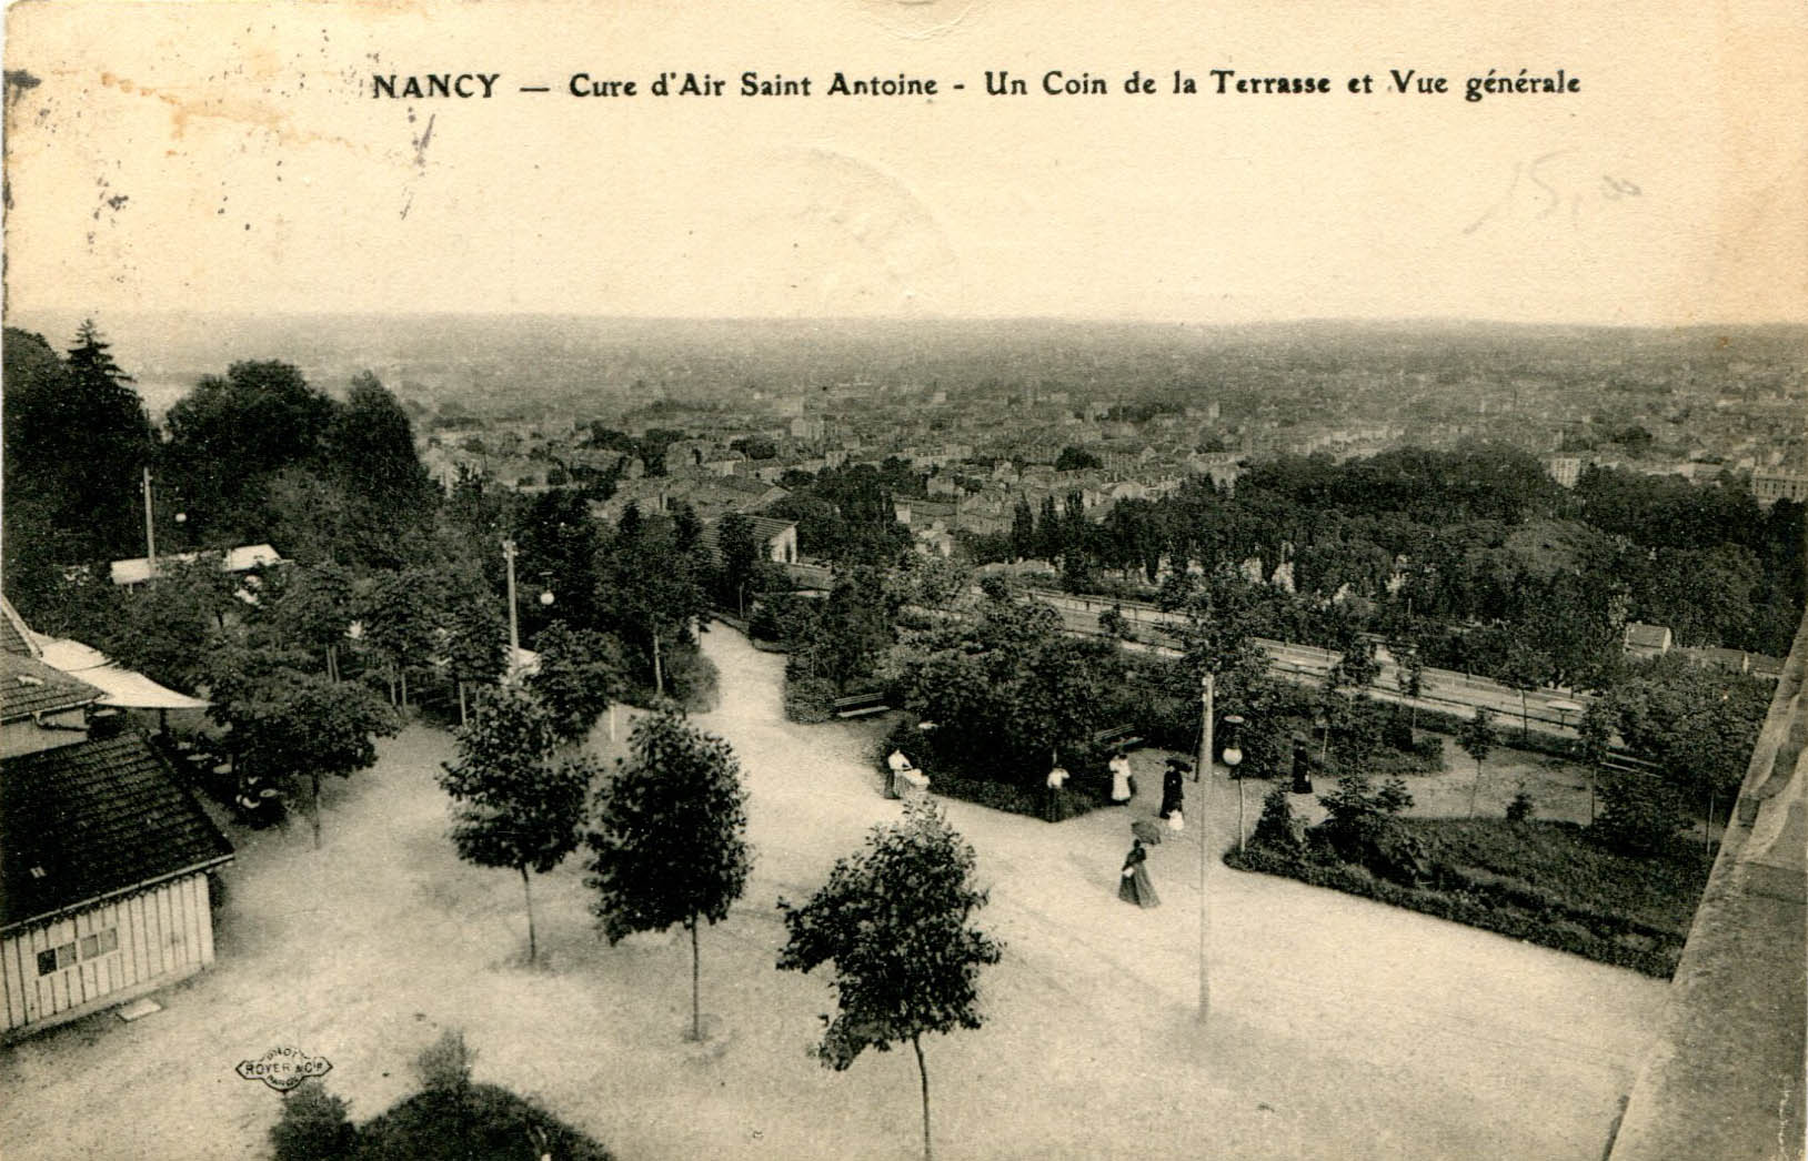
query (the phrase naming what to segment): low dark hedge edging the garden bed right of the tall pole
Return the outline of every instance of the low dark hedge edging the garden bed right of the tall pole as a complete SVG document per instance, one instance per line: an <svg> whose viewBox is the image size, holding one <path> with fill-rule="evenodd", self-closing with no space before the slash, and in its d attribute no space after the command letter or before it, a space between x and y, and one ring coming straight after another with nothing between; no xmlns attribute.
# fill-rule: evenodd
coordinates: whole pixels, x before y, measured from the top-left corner
<svg viewBox="0 0 1808 1161"><path fill-rule="evenodd" d="M1224 856L1224 863L1235 867L1237 870L1257 870L1262 874L1298 879L1300 883L1309 883L1311 887L1329 887L1331 890L1342 890L1345 894L1361 896L1390 906L1401 906L1425 915L1436 915L1437 919L1448 919L1452 923L1481 928L1484 932L1495 932L1499 935L1522 939L1526 943L1555 948L1558 952L1569 952L1571 955L1582 955L1584 959L1593 959L1595 962L1611 964L1615 968L1631 968L1633 971L1642 971L1656 979L1671 979L1671 975L1676 973L1678 959L1681 959L1681 943L1676 941L1674 933L1654 933L1656 937L1671 941L1665 946L1627 946L1616 937L1600 935L1589 930L1573 917L1564 917L1564 912L1569 912L1569 908L1555 914L1528 914L1524 910L1513 910L1511 906L1492 905L1481 892L1399 887L1396 883L1376 879L1365 868L1351 863L1314 863L1262 847L1248 847L1242 852L1233 849ZM1504 901L1506 896L1497 894L1495 897ZM1643 937L1653 937L1653 930L1643 924L1629 924L1624 919L1613 919L1613 923L1622 928L1634 928Z"/></svg>

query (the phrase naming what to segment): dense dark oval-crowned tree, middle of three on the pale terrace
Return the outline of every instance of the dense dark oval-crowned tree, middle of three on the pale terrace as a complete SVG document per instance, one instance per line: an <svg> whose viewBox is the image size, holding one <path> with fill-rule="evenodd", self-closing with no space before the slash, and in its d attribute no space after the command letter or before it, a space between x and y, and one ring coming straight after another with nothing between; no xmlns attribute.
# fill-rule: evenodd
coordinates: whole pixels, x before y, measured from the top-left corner
<svg viewBox="0 0 1808 1161"><path fill-rule="evenodd" d="M635 722L627 746L588 840L591 912L611 944L674 923L691 932L691 1038L702 1040L698 921L727 919L752 870L741 764L671 710Z"/></svg>

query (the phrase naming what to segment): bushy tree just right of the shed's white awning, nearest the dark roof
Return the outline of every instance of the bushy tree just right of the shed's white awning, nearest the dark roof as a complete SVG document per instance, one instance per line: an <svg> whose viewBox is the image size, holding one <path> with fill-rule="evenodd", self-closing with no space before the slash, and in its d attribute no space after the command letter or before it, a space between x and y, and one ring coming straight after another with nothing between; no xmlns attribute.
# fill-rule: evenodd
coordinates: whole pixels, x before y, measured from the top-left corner
<svg viewBox="0 0 1808 1161"><path fill-rule="evenodd" d="M257 650L215 639L208 650L208 715L231 728L242 773L271 782L307 775L315 847L320 847L320 775L349 778L376 762L376 738L396 715L358 684L302 668L306 654Z"/></svg>

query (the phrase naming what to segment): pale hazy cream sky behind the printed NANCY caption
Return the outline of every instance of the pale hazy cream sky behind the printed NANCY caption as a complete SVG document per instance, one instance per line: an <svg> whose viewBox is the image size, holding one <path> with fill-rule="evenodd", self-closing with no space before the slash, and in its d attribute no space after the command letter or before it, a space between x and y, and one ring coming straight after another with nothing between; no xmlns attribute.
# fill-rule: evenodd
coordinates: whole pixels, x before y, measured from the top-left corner
<svg viewBox="0 0 1808 1161"><path fill-rule="evenodd" d="M7 305L1808 318L1797 0L694 7L16 5ZM1387 92L1490 67L1582 88ZM1043 96L1052 69L1110 92ZM1332 92L1219 96L1211 69ZM729 96L653 98L662 70ZM734 96L743 70L814 96ZM835 70L940 92L830 98ZM495 96L372 98L428 72Z"/></svg>

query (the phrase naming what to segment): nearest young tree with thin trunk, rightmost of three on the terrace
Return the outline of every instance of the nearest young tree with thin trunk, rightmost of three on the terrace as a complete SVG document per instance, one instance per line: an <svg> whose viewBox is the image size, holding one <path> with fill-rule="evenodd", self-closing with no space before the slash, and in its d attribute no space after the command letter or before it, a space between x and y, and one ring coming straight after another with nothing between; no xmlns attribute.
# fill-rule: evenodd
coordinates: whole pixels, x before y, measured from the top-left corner
<svg viewBox="0 0 1808 1161"><path fill-rule="evenodd" d="M837 1073L868 1047L908 1040L922 1082L922 1156L929 1138L929 1071L924 1033L980 1027L980 968L1002 948L967 926L985 905L973 887L973 847L929 802L909 802L904 822L873 827L866 849L837 859L808 903L779 899L790 941L779 968L810 971L833 962L837 1015L823 1017L817 1058Z"/></svg>

